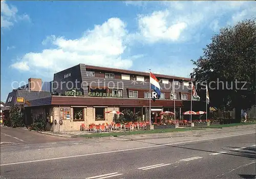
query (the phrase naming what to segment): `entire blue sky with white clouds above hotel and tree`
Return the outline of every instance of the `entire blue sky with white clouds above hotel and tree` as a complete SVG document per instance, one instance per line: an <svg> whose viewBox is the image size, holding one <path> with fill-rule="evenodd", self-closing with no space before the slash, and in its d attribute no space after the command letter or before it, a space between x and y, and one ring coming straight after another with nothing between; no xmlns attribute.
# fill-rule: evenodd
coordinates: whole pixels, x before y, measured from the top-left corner
<svg viewBox="0 0 256 179"><path fill-rule="evenodd" d="M254 5L1 1L1 101L30 77L51 81L78 63L188 77L211 36L252 17Z"/></svg>

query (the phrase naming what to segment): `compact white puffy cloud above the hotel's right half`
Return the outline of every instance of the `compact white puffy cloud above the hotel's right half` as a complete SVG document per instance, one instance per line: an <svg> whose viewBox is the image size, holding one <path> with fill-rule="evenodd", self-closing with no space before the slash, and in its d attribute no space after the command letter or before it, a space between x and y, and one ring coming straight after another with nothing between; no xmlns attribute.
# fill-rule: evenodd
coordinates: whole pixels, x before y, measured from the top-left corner
<svg viewBox="0 0 256 179"><path fill-rule="evenodd" d="M140 34L148 42L160 40L176 41L180 38L181 32L187 27L184 21L169 23L169 11L155 11L150 15L139 16Z"/></svg>

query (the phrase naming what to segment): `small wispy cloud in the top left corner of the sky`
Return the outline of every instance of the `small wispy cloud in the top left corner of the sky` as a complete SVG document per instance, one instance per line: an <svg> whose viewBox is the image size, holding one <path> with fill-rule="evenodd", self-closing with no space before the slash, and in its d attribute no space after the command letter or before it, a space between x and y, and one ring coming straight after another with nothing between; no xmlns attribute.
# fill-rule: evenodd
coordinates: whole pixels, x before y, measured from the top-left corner
<svg viewBox="0 0 256 179"><path fill-rule="evenodd" d="M9 6L6 1L1 1L1 28L10 28L17 20L30 21L28 14L19 15L17 13L18 9L15 6Z"/></svg>

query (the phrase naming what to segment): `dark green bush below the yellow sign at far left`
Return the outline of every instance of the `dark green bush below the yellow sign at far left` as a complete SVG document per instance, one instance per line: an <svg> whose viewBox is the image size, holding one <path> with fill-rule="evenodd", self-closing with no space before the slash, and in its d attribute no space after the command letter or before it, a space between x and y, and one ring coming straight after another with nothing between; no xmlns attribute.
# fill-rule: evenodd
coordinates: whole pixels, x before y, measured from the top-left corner
<svg viewBox="0 0 256 179"><path fill-rule="evenodd" d="M9 121L8 121L9 120ZM23 127L23 114L17 105L12 105L9 111L9 119L5 125L9 125L11 127Z"/></svg>

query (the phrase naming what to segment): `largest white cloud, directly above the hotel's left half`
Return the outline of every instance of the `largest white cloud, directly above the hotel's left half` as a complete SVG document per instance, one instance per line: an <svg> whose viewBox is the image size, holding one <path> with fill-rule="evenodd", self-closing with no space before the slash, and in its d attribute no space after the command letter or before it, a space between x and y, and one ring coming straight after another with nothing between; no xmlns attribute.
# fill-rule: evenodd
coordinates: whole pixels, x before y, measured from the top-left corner
<svg viewBox="0 0 256 179"><path fill-rule="evenodd" d="M125 27L125 23L119 18L110 18L93 30L87 30L78 39L48 36L42 43L51 43L55 48L45 49L40 53L27 53L21 62L12 64L12 68L24 71L36 69L44 72L42 75L52 75L53 72L79 63L129 69L133 61L121 57L126 49ZM26 68L20 67L25 64Z"/></svg>

